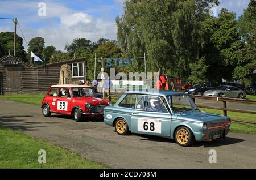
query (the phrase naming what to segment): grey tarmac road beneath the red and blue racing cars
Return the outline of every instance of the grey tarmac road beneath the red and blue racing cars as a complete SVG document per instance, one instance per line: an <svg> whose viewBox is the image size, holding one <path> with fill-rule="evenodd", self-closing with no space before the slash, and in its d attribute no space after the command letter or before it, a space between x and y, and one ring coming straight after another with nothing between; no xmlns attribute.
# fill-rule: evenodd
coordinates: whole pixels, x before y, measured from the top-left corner
<svg viewBox="0 0 256 180"><path fill-rule="evenodd" d="M112 168L256 168L255 135L229 133L226 139L180 147L174 140L155 136L119 136L100 119L75 122L55 114L47 118L41 110L36 105L0 100L0 125ZM210 149L217 152L216 164L208 161Z"/></svg>

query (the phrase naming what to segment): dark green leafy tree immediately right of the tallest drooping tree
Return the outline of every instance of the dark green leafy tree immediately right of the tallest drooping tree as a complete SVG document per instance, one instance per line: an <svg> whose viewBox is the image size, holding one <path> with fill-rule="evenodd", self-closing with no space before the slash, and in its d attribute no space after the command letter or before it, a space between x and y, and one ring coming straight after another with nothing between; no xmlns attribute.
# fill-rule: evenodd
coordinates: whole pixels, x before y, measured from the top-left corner
<svg viewBox="0 0 256 180"><path fill-rule="evenodd" d="M203 53L209 65L207 79L221 82L232 80L232 72L240 61L243 43L238 35L236 14L222 9L218 18L208 17L202 22L207 31Z"/></svg>

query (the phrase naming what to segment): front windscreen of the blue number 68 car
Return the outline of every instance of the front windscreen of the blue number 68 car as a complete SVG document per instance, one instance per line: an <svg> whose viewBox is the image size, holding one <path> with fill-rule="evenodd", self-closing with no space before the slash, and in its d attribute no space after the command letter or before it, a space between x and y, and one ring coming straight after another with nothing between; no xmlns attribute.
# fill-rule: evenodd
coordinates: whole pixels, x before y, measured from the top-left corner
<svg viewBox="0 0 256 180"><path fill-rule="evenodd" d="M167 101L175 113L198 109L195 102L187 95L167 96Z"/></svg>

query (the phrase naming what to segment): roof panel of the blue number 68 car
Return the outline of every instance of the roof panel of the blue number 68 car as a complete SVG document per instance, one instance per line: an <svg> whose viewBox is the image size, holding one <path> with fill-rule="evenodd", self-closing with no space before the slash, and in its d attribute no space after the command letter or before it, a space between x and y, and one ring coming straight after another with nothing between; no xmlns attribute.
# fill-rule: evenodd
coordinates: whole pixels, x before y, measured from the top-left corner
<svg viewBox="0 0 256 180"><path fill-rule="evenodd" d="M126 94L146 94L146 95L156 95L156 96L171 96L171 95L187 95L187 93L177 92L177 91L164 91L156 89L147 89L142 91L126 91Z"/></svg>

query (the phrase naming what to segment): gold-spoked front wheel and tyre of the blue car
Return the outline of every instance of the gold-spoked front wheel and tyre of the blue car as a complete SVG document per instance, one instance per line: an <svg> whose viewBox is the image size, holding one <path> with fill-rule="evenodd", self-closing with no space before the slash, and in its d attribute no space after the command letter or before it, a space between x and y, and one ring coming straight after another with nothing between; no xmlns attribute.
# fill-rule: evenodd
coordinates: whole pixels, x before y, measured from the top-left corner
<svg viewBox="0 0 256 180"><path fill-rule="evenodd" d="M175 141L180 146L188 147L195 143L195 136L188 127L181 126L175 131Z"/></svg>

